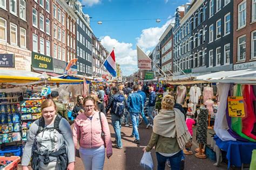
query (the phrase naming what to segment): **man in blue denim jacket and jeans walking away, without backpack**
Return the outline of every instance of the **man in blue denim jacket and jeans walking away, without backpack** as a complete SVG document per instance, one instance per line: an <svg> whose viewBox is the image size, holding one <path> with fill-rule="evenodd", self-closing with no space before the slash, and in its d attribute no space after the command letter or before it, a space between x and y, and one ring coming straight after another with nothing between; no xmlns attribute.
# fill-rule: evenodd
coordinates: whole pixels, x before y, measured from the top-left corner
<svg viewBox="0 0 256 170"><path fill-rule="evenodd" d="M143 112L144 101L142 95L138 93L138 86L133 86L133 93L128 96L128 111L132 121L132 136L135 136L134 143L139 143L138 120L139 114Z"/></svg>

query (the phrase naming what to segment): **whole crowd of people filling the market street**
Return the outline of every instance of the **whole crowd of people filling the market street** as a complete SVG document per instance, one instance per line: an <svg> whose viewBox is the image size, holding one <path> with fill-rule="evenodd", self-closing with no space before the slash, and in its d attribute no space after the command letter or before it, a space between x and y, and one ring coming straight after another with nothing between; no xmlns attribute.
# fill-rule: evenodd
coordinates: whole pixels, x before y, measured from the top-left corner
<svg viewBox="0 0 256 170"><path fill-rule="evenodd" d="M165 169L166 164L172 169L184 169L183 149L190 152L187 144L192 138L190 125L193 122L190 120L190 125L186 125L186 113L174 102L172 93L165 94L161 110L155 116L157 95L149 84L99 86L85 98L77 96L77 104L72 110L75 121L72 122L65 105L58 102L58 96L57 91L52 91L51 99L42 104L42 117L29 129L22 157L24 170L28 169L30 160L32 169L74 169L76 150L85 169L103 169L105 156L109 159L112 155L107 115L111 115L115 133L114 147L123 148L122 124L130 126L130 122L133 142L139 144L138 127L144 121L147 129L152 127L152 135L143 151L156 148L158 169ZM73 124L72 130L70 124Z"/></svg>

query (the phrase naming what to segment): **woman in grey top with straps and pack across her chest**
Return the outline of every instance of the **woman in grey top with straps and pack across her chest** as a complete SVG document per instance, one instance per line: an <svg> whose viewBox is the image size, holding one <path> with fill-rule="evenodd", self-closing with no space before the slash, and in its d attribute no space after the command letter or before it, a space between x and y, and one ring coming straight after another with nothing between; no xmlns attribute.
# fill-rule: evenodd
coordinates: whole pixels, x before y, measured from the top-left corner
<svg viewBox="0 0 256 170"><path fill-rule="evenodd" d="M41 105L42 117L32 123L22 155L22 169L73 170L75 147L69 122L56 112L53 100Z"/></svg>

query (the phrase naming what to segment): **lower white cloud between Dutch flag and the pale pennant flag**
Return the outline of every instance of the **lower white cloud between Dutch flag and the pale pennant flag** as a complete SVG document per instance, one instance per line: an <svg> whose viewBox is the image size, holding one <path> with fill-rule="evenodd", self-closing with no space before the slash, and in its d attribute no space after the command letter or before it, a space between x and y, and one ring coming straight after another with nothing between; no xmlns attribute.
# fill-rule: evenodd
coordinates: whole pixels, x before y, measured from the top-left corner
<svg viewBox="0 0 256 170"><path fill-rule="evenodd" d="M116 61L121 65L123 75L130 75L137 68L137 50L132 49L131 43L119 42L109 36L100 38L102 45L111 52L114 47Z"/></svg>

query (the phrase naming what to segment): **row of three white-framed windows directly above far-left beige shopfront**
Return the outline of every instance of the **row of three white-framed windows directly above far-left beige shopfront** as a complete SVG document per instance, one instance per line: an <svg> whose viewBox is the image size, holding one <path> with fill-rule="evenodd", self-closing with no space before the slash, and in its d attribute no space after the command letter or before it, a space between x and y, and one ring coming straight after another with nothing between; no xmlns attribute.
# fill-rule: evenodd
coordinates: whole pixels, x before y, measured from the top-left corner
<svg viewBox="0 0 256 170"><path fill-rule="evenodd" d="M26 30L19 27L20 47L26 48ZM0 40L7 42L7 21L0 18ZM10 44L18 45L18 26L10 23Z"/></svg>

